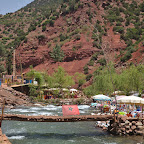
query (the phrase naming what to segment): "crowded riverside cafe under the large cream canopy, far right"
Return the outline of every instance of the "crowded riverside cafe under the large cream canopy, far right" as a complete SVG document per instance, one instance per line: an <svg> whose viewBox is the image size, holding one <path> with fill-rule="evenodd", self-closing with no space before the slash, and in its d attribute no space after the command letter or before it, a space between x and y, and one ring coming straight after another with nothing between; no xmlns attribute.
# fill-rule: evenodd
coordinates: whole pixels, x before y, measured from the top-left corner
<svg viewBox="0 0 144 144"><path fill-rule="evenodd" d="M143 117L144 116L144 99L137 96L121 96L117 98L119 105L119 114L127 115L128 117Z"/></svg>

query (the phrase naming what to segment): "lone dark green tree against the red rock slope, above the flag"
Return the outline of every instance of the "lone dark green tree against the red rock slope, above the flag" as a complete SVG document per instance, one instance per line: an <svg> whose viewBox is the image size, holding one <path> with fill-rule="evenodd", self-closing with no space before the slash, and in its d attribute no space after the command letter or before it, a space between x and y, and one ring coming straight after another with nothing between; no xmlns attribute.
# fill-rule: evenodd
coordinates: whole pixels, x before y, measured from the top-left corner
<svg viewBox="0 0 144 144"><path fill-rule="evenodd" d="M63 50L61 50L61 47L59 45L56 45L53 48L53 51L50 53L50 56L55 62L62 62L64 59L64 52Z"/></svg>

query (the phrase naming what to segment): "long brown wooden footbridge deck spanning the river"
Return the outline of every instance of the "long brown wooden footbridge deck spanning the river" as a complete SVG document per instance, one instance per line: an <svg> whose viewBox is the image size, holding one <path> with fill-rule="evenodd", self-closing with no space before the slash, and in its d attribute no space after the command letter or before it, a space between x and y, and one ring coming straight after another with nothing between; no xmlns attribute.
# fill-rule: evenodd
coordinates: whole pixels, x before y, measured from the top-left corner
<svg viewBox="0 0 144 144"><path fill-rule="evenodd" d="M76 116L26 116L5 114L3 120L30 122L79 122L79 121L107 121L113 115L76 115Z"/></svg>

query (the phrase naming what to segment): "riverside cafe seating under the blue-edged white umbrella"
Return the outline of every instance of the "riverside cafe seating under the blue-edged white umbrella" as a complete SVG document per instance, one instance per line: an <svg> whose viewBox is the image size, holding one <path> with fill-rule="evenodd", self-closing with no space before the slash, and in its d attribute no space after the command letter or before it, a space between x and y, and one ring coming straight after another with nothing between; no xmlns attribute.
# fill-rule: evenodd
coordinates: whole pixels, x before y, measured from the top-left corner
<svg viewBox="0 0 144 144"><path fill-rule="evenodd" d="M111 98L103 95L103 94L99 94L99 95L95 95L92 97L93 98L93 103L91 103L91 107L95 107L97 110L100 110L102 113L103 112L110 112L110 104L111 104Z"/></svg>

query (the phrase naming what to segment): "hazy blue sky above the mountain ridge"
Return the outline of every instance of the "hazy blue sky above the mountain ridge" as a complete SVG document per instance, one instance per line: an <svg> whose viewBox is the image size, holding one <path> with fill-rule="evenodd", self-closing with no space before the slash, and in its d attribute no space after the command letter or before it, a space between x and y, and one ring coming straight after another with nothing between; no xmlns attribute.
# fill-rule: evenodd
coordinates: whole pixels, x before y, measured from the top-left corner
<svg viewBox="0 0 144 144"><path fill-rule="evenodd" d="M0 14L15 12L34 0L0 0Z"/></svg>

